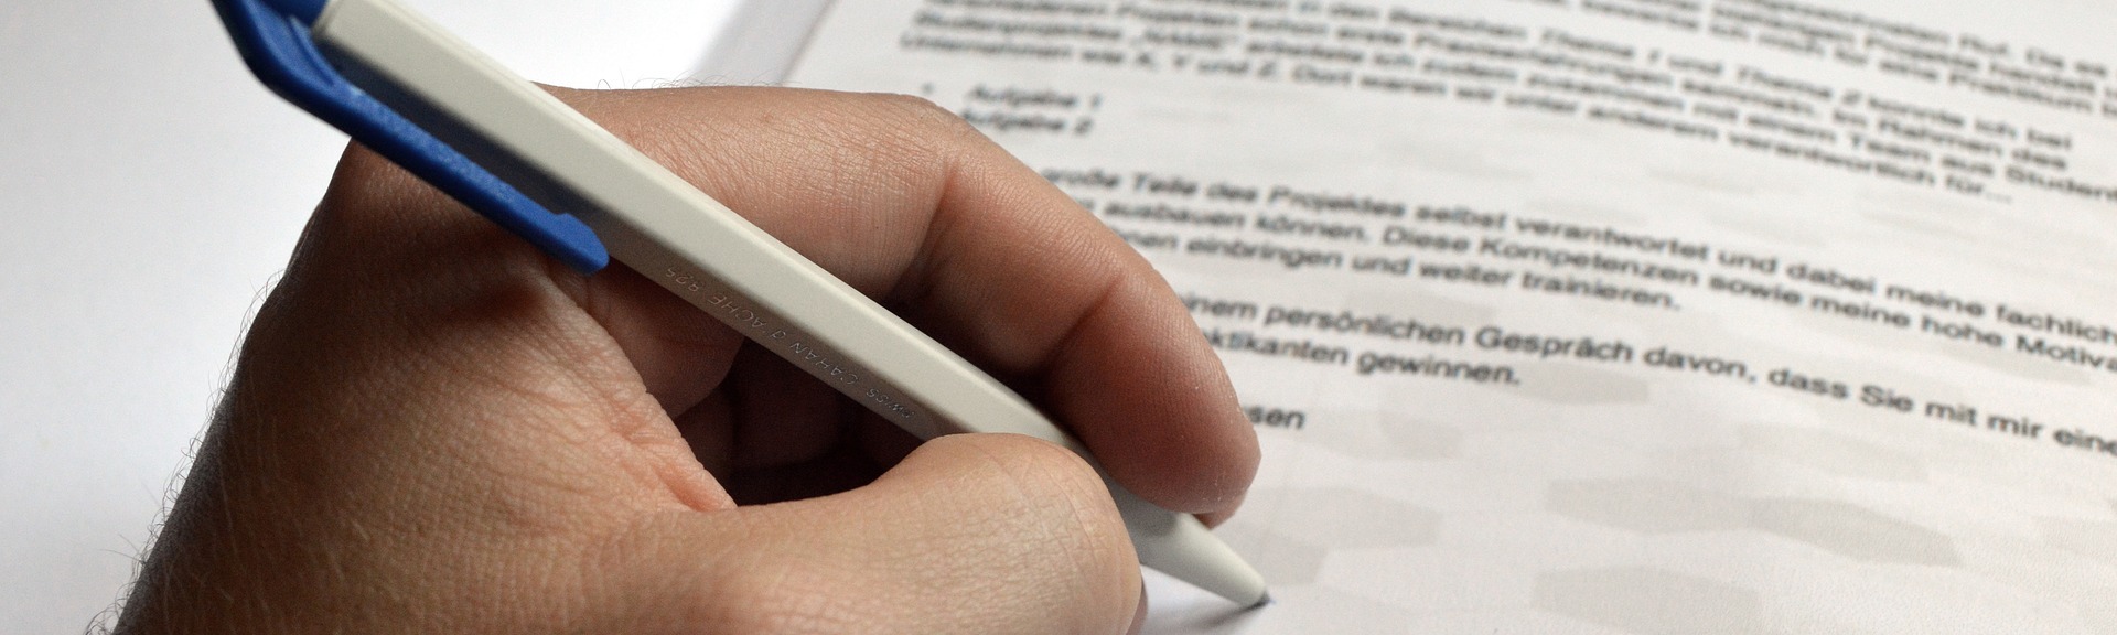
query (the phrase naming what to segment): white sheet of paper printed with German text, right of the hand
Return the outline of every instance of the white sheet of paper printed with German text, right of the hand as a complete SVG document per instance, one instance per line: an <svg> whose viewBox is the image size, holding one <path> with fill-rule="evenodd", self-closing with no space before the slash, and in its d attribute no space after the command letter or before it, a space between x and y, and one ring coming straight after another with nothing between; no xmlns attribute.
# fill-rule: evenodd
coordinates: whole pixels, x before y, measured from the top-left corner
<svg viewBox="0 0 2117 635"><path fill-rule="evenodd" d="M1147 254L1277 605L1160 633L2117 633L2117 55L2083 2L860 0Z"/></svg>

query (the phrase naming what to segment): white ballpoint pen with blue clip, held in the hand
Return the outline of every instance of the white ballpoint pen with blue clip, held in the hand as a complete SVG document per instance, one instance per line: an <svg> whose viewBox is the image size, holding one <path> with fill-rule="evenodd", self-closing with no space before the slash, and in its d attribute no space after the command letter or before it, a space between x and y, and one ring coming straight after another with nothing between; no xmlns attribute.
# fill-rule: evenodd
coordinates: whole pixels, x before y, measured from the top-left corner
<svg viewBox="0 0 2117 635"><path fill-rule="evenodd" d="M1103 472L1139 561L1241 605L1264 578L1035 406L557 97L394 0L214 0L252 72L553 258L618 258L919 438L1035 436ZM563 212L563 214L555 214Z"/></svg>

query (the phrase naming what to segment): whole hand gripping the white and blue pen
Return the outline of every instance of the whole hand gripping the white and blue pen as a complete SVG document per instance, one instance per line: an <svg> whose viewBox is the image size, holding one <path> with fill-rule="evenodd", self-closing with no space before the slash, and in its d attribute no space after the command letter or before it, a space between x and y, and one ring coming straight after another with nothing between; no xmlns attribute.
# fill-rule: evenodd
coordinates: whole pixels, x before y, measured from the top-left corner
<svg viewBox="0 0 2117 635"><path fill-rule="evenodd" d="M957 116L561 97L1023 389L1139 495L1207 521L1241 502L1255 436L1183 305ZM351 148L119 631L1124 633L1141 612L1075 455L917 444L639 273L572 273Z"/></svg>

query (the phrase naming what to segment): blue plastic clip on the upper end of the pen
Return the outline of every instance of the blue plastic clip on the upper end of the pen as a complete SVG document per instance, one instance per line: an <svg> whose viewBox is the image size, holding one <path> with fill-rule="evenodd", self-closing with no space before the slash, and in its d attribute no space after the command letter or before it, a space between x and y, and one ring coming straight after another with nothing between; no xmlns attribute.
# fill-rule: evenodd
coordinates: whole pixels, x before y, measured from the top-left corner
<svg viewBox="0 0 2117 635"><path fill-rule="evenodd" d="M580 218L553 214L339 74L309 38L324 0L214 0L250 72L279 97L354 135L491 222L580 273L610 265L610 252Z"/></svg>

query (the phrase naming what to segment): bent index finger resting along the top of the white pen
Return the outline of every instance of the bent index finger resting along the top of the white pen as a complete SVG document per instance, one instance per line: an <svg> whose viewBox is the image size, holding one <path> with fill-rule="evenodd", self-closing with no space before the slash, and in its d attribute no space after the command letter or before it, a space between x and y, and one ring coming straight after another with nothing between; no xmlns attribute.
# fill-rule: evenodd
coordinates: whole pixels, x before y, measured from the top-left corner
<svg viewBox="0 0 2117 635"><path fill-rule="evenodd" d="M567 97L957 353L1027 387L1141 497L1183 512L1241 502L1257 464L1255 434L1166 282L961 119L912 97L785 89Z"/></svg>

